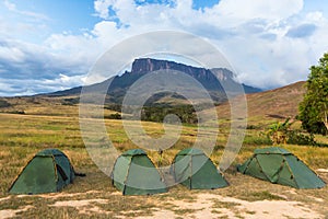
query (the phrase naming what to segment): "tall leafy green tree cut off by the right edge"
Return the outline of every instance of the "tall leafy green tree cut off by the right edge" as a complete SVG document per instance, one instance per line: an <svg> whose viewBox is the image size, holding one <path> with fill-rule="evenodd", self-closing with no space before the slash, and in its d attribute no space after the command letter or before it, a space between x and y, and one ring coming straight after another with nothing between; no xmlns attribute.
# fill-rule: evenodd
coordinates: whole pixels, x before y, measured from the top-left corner
<svg viewBox="0 0 328 219"><path fill-rule="evenodd" d="M328 132L328 54L319 59L318 66L311 67L306 93L298 108L304 129L313 134Z"/></svg>

